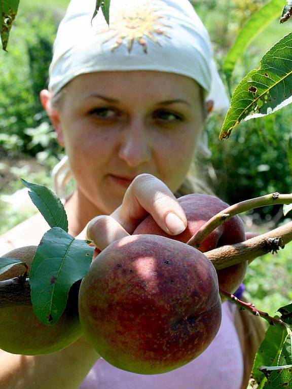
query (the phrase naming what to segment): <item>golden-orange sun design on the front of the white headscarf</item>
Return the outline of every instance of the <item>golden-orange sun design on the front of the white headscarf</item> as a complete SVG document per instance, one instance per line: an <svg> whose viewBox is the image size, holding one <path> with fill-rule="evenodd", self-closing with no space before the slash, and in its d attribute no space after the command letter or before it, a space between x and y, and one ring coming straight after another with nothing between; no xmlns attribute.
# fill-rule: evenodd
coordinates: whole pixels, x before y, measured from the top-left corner
<svg viewBox="0 0 292 389"><path fill-rule="evenodd" d="M163 35L169 38L167 33L163 31L163 27L168 27L160 19L165 16L159 16L156 8L150 5L149 1L133 2L124 5L124 10L118 13L109 24L109 31L112 31L111 35L104 41L106 43L117 37L115 45L112 47L112 51L115 51L126 40L128 42L128 52L130 53L134 42L137 42L143 47L145 53L147 53L147 38L154 43L161 46L159 38L156 35ZM105 31L100 31L105 32Z"/></svg>

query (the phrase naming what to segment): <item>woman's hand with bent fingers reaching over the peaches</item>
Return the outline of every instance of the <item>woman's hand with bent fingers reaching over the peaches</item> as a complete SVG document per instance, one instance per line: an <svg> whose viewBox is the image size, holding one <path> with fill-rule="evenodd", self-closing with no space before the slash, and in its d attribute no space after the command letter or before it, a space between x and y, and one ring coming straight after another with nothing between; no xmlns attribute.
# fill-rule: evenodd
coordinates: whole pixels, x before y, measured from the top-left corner
<svg viewBox="0 0 292 389"><path fill-rule="evenodd" d="M170 189L150 174L140 174L128 187L122 205L109 216L97 216L87 225L87 238L103 250L112 242L131 235L151 214L170 235L187 227L187 218Z"/></svg>

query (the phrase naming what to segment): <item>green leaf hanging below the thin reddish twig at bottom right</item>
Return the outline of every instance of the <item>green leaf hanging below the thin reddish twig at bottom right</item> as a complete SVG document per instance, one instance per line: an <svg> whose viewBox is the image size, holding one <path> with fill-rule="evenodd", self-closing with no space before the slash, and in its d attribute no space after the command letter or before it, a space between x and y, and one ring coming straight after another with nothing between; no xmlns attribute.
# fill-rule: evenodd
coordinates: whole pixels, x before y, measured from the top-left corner
<svg viewBox="0 0 292 389"><path fill-rule="evenodd" d="M267 381L266 376L259 368L261 366L277 366L282 348L284 347L285 342L289 341L289 338L286 328L269 326L266 336L255 356L251 372L251 378L258 383L259 388L262 388ZM285 364L290 364L290 362L287 361Z"/></svg>

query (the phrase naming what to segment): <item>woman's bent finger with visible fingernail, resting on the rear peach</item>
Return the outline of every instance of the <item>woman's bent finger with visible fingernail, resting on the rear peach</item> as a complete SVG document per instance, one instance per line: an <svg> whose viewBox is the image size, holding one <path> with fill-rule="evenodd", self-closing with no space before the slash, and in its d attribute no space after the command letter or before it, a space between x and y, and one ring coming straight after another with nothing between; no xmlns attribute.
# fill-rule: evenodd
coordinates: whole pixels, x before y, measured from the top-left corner
<svg viewBox="0 0 292 389"><path fill-rule="evenodd" d="M167 185L151 174L140 174L131 182L122 205L111 216L132 234L148 214L170 235L180 234L188 224L184 210Z"/></svg>

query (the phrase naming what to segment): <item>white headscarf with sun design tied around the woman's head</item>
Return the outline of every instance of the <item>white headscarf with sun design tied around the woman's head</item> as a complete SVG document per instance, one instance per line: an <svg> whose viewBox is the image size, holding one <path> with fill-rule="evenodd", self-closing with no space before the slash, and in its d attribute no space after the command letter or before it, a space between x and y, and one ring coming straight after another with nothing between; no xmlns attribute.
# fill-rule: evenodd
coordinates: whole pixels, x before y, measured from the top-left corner
<svg viewBox="0 0 292 389"><path fill-rule="evenodd" d="M92 20L95 5L96 0L70 1L49 70L53 95L84 73L155 70L194 79L205 90L206 101L213 101L213 110L228 109L208 32L189 0L111 0L109 26L101 10ZM210 155L206 134L198 151ZM55 191L63 201L68 171L66 157L53 171Z"/></svg>

